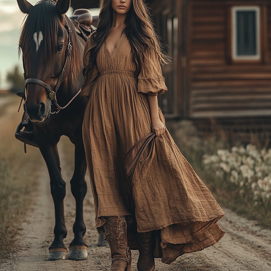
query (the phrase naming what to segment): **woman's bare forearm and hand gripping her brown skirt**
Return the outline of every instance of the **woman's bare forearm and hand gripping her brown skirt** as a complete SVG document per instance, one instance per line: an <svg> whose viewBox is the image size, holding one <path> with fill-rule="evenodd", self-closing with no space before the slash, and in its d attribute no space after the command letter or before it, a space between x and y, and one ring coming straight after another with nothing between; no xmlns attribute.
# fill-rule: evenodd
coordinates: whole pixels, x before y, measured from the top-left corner
<svg viewBox="0 0 271 271"><path fill-rule="evenodd" d="M165 132L165 125L159 118L157 95L147 95L151 111L151 130L156 137L161 136Z"/></svg>

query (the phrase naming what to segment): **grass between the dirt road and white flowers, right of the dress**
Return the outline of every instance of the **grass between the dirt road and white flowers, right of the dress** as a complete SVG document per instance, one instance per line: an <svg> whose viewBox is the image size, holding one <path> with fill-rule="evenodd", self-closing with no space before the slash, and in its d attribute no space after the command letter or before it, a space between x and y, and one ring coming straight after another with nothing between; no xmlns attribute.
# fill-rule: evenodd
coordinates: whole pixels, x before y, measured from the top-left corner
<svg viewBox="0 0 271 271"><path fill-rule="evenodd" d="M181 121L175 124L173 129L175 130L174 139L180 151L210 189L219 204L230 208L248 219L257 220L259 225L270 229L270 210L266 210L261 205L255 206L250 197L241 198L239 190L234 185L225 182L225 180L219 180L213 172L207 172L202 164L203 154L214 154L217 149L227 149L232 145L239 145L240 143L230 142L226 137L222 137L221 135L225 135L226 133L221 128L218 131L220 136L217 136L216 133L212 136L202 138L198 136L197 129L190 121ZM256 137L257 135L252 138Z"/></svg>

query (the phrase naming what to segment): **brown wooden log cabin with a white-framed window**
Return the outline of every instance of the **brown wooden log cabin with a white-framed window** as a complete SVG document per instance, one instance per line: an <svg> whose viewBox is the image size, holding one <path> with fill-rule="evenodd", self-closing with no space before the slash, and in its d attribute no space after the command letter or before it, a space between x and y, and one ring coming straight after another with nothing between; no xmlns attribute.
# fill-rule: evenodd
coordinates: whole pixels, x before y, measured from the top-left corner
<svg viewBox="0 0 271 271"><path fill-rule="evenodd" d="M71 2L98 7L95 1ZM159 104L165 116L271 116L271 1L147 2L173 57L162 68L168 92L159 95Z"/></svg>

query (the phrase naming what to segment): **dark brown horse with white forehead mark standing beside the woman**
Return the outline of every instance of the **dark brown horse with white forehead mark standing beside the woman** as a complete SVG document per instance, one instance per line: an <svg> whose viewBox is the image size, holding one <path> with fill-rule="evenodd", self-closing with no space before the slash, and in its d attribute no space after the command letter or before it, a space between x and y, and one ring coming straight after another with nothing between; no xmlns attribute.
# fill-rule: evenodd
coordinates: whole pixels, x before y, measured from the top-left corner
<svg viewBox="0 0 271 271"><path fill-rule="evenodd" d="M28 14L19 42L25 79L28 79L23 107L34 124L35 140L48 167L55 205L55 239L49 248L48 260L66 259L68 254L63 243L67 235L63 209L66 183L61 176L57 148L62 135L68 136L75 145L75 166L70 185L76 200L76 217L68 259L85 260L87 245L83 240L86 232L83 200L87 186L82 122L86 99L76 94L84 80L82 69L86 40L76 34L73 21L65 15L70 0L58 0L57 3L42 0L34 6L26 0L17 0L17 3L20 10ZM66 108L59 110L70 100Z"/></svg>

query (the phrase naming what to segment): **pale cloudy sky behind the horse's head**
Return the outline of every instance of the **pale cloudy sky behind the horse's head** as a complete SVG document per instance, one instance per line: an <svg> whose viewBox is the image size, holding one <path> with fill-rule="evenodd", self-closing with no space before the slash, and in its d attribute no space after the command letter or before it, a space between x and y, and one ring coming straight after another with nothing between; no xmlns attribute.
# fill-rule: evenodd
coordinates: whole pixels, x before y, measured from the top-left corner
<svg viewBox="0 0 271 271"><path fill-rule="evenodd" d="M32 5L38 1L27 0ZM18 42L20 29L26 14L23 14L16 0L0 0L0 89L8 86L6 73L16 64L22 70L22 56L18 57ZM70 8L67 15L70 16L73 9ZM98 9L92 10L92 15L98 15Z"/></svg>

